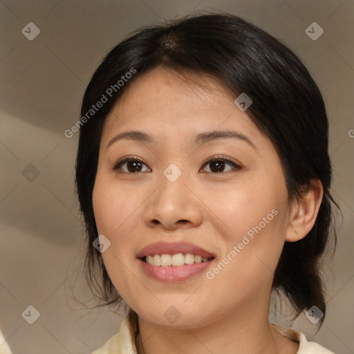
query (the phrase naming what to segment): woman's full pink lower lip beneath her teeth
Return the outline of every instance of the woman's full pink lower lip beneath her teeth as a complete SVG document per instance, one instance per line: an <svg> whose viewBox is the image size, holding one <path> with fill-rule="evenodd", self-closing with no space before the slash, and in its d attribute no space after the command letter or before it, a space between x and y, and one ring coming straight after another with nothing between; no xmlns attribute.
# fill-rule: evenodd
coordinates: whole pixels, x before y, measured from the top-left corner
<svg viewBox="0 0 354 354"><path fill-rule="evenodd" d="M167 281L169 283L175 281L184 281L192 278L194 275L205 271L212 264L212 261L214 261L214 259L211 259L207 262L185 264L178 267L174 267L173 265L169 265L167 267L158 267L156 265L145 263L145 261L142 261L142 259L138 260L142 265L142 269L147 273L147 275L149 275L149 277L158 281Z"/></svg>

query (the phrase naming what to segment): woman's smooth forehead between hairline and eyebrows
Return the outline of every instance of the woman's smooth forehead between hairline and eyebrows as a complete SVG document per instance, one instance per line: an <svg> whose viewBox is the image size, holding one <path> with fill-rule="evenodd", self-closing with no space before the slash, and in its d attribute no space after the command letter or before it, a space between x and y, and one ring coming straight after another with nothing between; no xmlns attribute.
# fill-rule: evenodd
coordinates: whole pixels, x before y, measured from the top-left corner
<svg viewBox="0 0 354 354"><path fill-rule="evenodd" d="M186 76L155 68L132 82L115 102L102 140L129 130L180 140L217 129L237 129L252 138L264 139L247 113L234 104L235 98L225 84L209 75Z"/></svg>

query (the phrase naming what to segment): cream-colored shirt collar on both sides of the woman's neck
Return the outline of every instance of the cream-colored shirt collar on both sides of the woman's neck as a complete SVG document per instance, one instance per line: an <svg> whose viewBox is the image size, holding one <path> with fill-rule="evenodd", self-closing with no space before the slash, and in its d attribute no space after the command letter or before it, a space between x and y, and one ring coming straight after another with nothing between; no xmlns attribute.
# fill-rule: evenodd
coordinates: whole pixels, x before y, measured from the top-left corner
<svg viewBox="0 0 354 354"><path fill-rule="evenodd" d="M132 321L129 315L125 317L120 325L120 332L92 354L136 354L136 330L134 328L137 324L133 324ZM297 354L334 354L315 342L308 342L304 333L294 328L281 327L277 324L272 324L272 326L277 328L282 335L300 344Z"/></svg>

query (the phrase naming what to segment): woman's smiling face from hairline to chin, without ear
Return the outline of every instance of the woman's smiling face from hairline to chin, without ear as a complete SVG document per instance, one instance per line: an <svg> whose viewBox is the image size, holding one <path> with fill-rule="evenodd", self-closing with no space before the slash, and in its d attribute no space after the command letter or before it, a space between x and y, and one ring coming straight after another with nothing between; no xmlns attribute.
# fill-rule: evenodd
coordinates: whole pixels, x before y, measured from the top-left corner
<svg viewBox="0 0 354 354"><path fill-rule="evenodd" d="M116 102L102 131L93 209L124 301L159 326L194 328L268 305L289 205L269 138L220 82L190 78L157 68ZM132 131L149 140L117 138ZM202 263L180 256L203 252Z"/></svg>

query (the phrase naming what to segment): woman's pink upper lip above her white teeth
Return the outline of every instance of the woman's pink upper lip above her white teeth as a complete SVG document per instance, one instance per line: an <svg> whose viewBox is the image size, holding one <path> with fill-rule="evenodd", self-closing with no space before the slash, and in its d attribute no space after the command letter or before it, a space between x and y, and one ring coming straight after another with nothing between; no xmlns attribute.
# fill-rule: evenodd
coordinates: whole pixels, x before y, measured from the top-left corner
<svg viewBox="0 0 354 354"><path fill-rule="evenodd" d="M137 258L147 257L153 254L194 254L201 257L210 258L214 255L210 252L207 252L203 248L194 245L193 243L188 242L157 242L147 245L145 248L142 248L136 255Z"/></svg>

